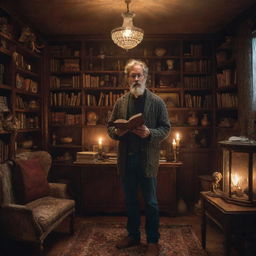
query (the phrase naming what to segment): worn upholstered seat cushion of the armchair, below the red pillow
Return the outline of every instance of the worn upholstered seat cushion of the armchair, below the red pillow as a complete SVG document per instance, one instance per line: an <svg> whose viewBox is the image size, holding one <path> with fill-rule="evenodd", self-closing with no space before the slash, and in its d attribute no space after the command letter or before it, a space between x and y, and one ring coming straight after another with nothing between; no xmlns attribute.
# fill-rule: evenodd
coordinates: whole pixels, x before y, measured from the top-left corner
<svg viewBox="0 0 256 256"><path fill-rule="evenodd" d="M74 209L75 201L46 196L30 202L26 206L32 210L34 219L42 230L46 231L66 213Z"/></svg>

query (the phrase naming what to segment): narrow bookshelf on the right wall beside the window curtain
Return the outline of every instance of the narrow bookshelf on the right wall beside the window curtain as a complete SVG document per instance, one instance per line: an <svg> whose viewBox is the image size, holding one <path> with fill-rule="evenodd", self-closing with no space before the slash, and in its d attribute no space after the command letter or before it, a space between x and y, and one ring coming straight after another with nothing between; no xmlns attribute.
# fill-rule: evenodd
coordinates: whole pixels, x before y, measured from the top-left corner
<svg viewBox="0 0 256 256"><path fill-rule="evenodd" d="M217 141L239 135L238 85L233 37L226 35L216 46L216 137Z"/></svg>

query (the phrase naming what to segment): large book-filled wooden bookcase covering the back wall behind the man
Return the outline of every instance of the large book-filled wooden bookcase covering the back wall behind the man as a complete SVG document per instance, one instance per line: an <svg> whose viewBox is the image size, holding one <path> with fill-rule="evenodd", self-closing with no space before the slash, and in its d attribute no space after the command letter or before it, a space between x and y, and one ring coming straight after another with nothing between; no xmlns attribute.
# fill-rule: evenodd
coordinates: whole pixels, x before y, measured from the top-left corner
<svg viewBox="0 0 256 256"><path fill-rule="evenodd" d="M128 59L137 58L149 66L147 86L166 102L172 123L162 152L172 159L171 142L178 132L180 160L188 162L184 182L194 182L195 173L209 169L215 140L212 38L147 38L128 52L105 38L59 38L49 42L48 57L48 148L56 163L73 162L78 151L97 150L100 137L103 152L117 151L116 142L107 135L106 121L116 99L129 90L124 66ZM193 116L197 122L189 121ZM62 143L63 137L72 142ZM189 191L187 196L192 194Z"/></svg>

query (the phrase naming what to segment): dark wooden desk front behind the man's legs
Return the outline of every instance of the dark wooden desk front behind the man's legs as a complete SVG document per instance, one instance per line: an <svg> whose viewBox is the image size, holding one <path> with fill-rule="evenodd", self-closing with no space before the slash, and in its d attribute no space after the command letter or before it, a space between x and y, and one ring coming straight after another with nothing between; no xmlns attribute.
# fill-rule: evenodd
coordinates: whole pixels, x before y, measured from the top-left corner
<svg viewBox="0 0 256 256"><path fill-rule="evenodd" d="M124 195L115 162L71 164L70 168L57 164L51 171L51 179L69 179L82 215L95 213L124 213ZM162 163L158 173L157 195L160 211L176 215L176 173L181 163ZM141 195L139 195L140 201Z"/></svg>

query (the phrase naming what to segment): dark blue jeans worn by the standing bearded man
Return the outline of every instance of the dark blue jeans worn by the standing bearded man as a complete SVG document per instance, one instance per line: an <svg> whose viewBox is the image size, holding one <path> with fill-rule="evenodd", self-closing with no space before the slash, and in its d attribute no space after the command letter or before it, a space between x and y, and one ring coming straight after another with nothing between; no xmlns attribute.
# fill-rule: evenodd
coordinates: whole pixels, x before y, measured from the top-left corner
<svg viewBox="0 0 256 256"><path fill-rule="evenodd" d="M157 179L145 177L139 154L128 156L125 175L122 179L127 210L128 236L140 240L140 207L137 198L141 189L145 205L145 232L148 243L157 243L159 234L159 209L156 195Z"/></svg>

